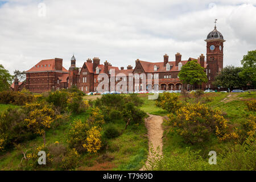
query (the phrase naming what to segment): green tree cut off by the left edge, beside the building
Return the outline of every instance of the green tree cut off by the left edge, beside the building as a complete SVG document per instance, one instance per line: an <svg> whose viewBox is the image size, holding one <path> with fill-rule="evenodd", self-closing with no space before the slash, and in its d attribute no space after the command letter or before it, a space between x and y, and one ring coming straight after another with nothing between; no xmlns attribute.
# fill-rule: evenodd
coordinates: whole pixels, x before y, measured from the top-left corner
<svg viewBox="0 0 256 182"><path fill-rule="evenodd" d="M13 76L0 64L0 92L9 90L11 81L13 81Z"/></svg>

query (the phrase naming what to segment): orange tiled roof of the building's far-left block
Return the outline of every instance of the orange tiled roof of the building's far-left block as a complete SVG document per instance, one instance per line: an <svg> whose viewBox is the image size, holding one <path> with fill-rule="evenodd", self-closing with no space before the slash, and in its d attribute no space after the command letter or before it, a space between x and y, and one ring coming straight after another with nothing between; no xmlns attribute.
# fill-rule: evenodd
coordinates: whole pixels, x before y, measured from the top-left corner
<svg viewBox="0 0 256 182"><path fill-rule="evenodd" d="M42 60L36 64L33 68L26 72L42 72L42 71L57 71L55 69L55 59ZM62 67L63 72L68 72L67 69Z"/></svg>

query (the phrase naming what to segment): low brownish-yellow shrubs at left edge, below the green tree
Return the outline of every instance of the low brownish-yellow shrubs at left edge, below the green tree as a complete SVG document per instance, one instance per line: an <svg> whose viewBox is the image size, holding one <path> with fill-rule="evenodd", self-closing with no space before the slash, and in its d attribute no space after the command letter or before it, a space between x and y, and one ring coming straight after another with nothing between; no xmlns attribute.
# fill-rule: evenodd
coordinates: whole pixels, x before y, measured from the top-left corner
<svg viewBox="0 0 256 182"><path fill-rule="evenodd" d="M25 105L26 103L30 103L32 101L34 101L34 96L29 92L0 92L1 104Z"/></svg>

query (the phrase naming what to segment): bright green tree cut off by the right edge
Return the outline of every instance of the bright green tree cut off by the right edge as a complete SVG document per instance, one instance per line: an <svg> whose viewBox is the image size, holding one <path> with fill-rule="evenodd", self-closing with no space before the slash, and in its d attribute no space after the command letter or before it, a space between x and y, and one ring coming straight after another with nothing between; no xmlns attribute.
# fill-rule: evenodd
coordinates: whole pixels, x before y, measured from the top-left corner
<svg viewBox="0 0 256 182"><path fill-rule="evenodd" d="M246 82L255 88L256 86L256 50L248 51L247 55L243 56L241 60L243 70L239 73L239 76Z"/></svg>

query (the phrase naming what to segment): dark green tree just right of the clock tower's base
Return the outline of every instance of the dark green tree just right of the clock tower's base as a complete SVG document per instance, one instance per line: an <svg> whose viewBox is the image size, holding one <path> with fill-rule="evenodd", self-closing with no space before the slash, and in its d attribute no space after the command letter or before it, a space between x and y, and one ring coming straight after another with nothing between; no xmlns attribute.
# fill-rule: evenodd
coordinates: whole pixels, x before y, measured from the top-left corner
<svg viewBox="0 0 256 182"><path fill-rule="evenodd" d="M242 87L245 86L245 81L239 76L242 71L241 67L227 66L222 69L221 73L215 77L213 85L223 86L225 88Z"/></svg>

